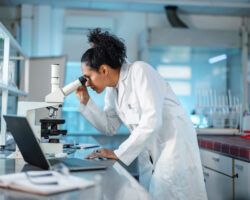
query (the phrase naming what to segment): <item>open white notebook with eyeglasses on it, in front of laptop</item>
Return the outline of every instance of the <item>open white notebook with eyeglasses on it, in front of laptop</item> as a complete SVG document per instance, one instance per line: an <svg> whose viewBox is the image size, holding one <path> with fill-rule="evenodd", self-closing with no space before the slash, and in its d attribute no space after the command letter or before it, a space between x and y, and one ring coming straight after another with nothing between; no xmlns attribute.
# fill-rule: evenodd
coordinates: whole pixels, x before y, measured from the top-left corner
<svg viewBox="0 0 250 200"><path fill-rule="evenodd" d="M0 176L1 188L38 195L51 195L91 186L94 186L93 181L56 171L29 171Z"/></svg>

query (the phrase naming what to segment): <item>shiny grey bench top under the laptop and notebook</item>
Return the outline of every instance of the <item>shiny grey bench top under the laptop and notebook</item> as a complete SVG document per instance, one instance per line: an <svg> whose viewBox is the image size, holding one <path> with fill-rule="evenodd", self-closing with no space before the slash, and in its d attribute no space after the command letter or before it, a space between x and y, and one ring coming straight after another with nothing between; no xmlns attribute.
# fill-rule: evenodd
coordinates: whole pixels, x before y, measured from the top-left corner
<svg viewBox="0 0 250 200"><path fill-rule="evenodd" d="M71 157L83 158L92 150L77 150ZM23 159L7 159L7 152L0 152L0 175L17 173L29 170L40 170L24 162ZM3 200L32 199L32 200L127 200L152 199L150 194L131 176L121 163L113 160L100 160L108 166L105 170L72 172L80 178L95 181L95 186L82 190L59 193L50 196L39 196L14 190L0 189L0 198ZM99 180L99 181L98 181ZM99 184L98 184L99 183Z"/></svg>

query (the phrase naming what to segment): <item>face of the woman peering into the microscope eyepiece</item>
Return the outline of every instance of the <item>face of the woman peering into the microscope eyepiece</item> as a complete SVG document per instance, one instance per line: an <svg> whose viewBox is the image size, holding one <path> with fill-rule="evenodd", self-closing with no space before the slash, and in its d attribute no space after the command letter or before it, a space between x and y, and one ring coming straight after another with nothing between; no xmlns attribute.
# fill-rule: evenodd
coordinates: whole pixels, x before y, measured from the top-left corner
<svg viewBox="0 0 250 200"><path fill-rule="evenodd" d="M106 87L106 76L103 70L100 68L99 71L95 71L85 63L82 63L82 71L84 77L87 79L85 86L91 87L97 93L103 92Z"/></svg>

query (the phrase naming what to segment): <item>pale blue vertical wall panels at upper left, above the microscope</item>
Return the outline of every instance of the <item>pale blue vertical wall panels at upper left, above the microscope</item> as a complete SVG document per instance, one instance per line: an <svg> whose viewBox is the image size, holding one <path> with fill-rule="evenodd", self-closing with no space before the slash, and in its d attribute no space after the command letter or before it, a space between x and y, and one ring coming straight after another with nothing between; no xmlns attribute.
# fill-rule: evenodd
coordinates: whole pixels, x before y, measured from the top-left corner
<svg viewBox="0 0 250 200"><path fill-rule="evenodd" d="M21 45L29 56L62 55L63 9L21 6Z"/></svg>

